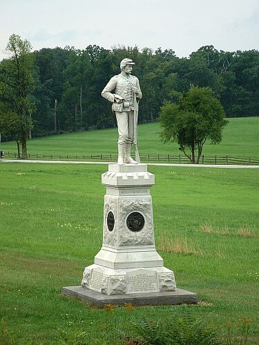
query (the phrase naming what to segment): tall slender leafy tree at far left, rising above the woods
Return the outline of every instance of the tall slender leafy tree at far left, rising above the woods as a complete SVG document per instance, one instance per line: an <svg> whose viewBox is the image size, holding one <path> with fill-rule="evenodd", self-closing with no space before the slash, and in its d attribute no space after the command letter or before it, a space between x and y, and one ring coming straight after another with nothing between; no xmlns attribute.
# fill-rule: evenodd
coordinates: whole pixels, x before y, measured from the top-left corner
<svg viewBox="0 0 259 345"><path fill-rule="evenodd" d="M27 140L32 128L30 115L35 110L35 104L30 99L30 93L34 90L31 72L33 56L30 53L32 46L26 39L23 41L19 35L12 34L6 49L12 57L1 63L1 98L10 103L12 110L19 116L20 128L17 133L19 135L17 144L21 143L22 158L26 159Z"/></svg>

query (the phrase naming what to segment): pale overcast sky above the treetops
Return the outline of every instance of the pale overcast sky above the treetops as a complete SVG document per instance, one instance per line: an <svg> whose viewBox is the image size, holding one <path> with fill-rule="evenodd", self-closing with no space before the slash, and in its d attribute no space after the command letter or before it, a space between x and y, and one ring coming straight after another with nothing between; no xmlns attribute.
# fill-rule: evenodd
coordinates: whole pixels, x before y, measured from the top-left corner
<svg viewBox="0 0 259 345"><path fill-rule="evenodd" d="M33 50L88 45L259 50L259 0L0 0L0 60L11 34Z"/></svg>

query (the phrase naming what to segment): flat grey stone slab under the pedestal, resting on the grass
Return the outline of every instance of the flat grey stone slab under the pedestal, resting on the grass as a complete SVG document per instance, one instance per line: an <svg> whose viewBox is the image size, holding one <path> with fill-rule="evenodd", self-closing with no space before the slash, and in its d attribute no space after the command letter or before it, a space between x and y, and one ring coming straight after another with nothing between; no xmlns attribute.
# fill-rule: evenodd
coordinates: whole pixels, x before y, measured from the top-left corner
<svg viewBox="0 0 259 345"><path fill-rule="evenodd" d="M191 293L182 288L177 288L176 291L164 293L134 293L128 295L104 295L97 291L83 288L82 286L67 286L62 288L62 295L74 297L81 301L95 304L102 307L105 304L115 304L117 306L124 306L125 303L130 303L133 306L160 306L171 304L197 304L198 298L196 293Z"/></svg>

